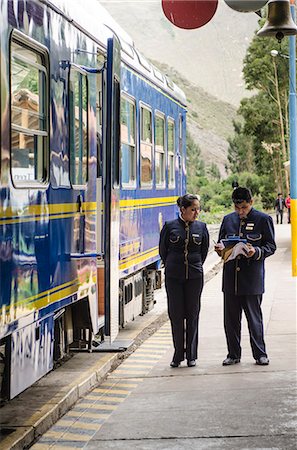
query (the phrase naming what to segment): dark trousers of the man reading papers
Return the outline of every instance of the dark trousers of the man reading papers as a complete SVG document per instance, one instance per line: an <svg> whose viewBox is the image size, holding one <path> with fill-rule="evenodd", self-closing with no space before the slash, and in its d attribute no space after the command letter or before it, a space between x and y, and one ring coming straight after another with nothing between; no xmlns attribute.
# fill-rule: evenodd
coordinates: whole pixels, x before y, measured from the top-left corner
<svg viewBox="0 0 297 450"><path fill-rule="evenodd" d="M224 293L224 327L228 346L228 357L241 358L241 317L245 313L250 333L250 344L254 359L266 356L262 295L232 295Z"/></svg>

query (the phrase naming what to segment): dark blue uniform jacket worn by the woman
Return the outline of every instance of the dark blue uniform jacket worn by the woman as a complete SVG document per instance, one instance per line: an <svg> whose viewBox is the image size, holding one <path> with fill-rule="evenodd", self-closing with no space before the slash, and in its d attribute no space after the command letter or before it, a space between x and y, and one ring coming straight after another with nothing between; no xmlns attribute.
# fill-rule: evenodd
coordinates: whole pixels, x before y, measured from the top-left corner
<svg viewBox="0 0 297 450"><path fill-rule="evenodd" d="M205 223L184 222L180 217L166 222L160 235L159 253L169 278L187 280L203 274L209 247Z"/></svg>

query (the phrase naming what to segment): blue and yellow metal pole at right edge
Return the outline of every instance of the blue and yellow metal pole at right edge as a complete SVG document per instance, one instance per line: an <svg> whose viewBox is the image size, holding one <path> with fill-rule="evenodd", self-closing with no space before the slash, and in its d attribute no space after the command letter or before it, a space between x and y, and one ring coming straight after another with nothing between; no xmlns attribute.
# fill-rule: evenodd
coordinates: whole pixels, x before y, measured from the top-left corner
<svg viewBox="0 0 297 450"><path fill-rule="evenodd" d="M292 19L296 21L295 0L290 0ZM297 276L297 139L296 139L296 36L289 37L289 116L290 116L290 196L292 275Z"/></svg>

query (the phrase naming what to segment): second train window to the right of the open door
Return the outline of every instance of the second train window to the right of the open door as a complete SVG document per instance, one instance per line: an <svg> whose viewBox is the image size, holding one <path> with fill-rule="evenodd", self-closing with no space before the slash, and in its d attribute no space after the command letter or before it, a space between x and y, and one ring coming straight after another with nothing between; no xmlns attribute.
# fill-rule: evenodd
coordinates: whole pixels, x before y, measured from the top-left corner
<svg viewBox="0 0 297 450"><path fill-rule="evenodd" d="M141 187L152 186L152 112L140 109L140 183Z"/></svg>

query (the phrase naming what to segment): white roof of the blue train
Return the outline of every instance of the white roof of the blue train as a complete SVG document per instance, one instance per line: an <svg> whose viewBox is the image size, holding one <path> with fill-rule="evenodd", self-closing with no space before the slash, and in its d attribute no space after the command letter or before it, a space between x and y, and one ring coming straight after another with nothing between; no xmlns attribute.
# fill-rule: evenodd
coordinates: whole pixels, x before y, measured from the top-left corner
<svg viewBox="0 0 297 450"><path fill-rule="evenodd" d="M106 47L113 34L121 43L122 60L186 106L186 96L167 75L153 66L134 46L133 39L113 19L98 0L41 0L69 22ZM86 8L86 5L88 6Z"/></svg>

